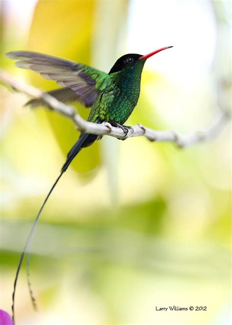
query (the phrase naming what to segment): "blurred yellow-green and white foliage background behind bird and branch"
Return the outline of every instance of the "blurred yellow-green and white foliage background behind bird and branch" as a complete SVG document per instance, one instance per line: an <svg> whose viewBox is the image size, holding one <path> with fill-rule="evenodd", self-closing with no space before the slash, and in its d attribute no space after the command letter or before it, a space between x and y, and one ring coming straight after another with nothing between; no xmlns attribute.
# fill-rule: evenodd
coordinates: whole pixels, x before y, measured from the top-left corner
<svg viewBox="0 0 232 325"><path fill-rule="evenodd" d="M34 7L32 2L23 7L19 1L2 1L3 52L40 51L109 71L125 52L145 53L139 48L145 38L147 47L155 50L153 38L164 35L165 26L156 25L155 19L143 30L148 10L155 13L161 2L139 7L141 21L136 25L131 24L139 1L41 0ZM183 2L183 8L203 9L203 2ZM184 77L180 86L179 75L170 78L164 68L171 60L177 64L171 58L182 55L181 50L169 53L164 65L154 58L163 71L151 71L146 64L139 103L128 125L188 132L214 118L215 71L227 87L230 78L228 56L221 55L221 48L226 52L230 15L227 6L216 2L207 2L218 31L214 72L199 70L194 80L181 65L183 53L178 61ZM178 7L180 2L168 5ZM173 16L173 22L165 23L168 33L185 15ZM141 33L128 50L128 33L138 24ZM188 25L182 33L185 43ZM201 35L195 37L191 50ZM169 40L164 42L169 45ZM17 78L46 90L57 87L1 59L3 68ZM43 108L22 108L26 100L1 87L1 306L8 312L31 222L78 137L66 118ZM230 104L227 98L224 103ZM75 106L87 118L89 110ZM40 311L30 308L24 265L16 294L19 324L227 324L230 146L228 126L215 141L186 150L142 137L124 142L105 137L78 154L49 199L32 245L31 276ZM173 304L207 305L208 312L155 310L156 305Z"/></svg>

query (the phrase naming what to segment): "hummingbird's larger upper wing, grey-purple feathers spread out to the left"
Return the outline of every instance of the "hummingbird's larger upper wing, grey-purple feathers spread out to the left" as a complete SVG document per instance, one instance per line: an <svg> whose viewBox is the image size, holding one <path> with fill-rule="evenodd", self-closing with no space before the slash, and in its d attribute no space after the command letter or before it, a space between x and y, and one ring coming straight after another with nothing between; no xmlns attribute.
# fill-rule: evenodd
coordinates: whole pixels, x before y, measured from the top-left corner
<svg viewBox="0 0 232 325"><path fill-rule="evenodd" d="M84 64L56 56L30 51L12 51L6 54L18 59L16 66L38 72L46 79L55 80L58 85L74 91L89 107L101 90L104 78L109 75Z"/></svg>

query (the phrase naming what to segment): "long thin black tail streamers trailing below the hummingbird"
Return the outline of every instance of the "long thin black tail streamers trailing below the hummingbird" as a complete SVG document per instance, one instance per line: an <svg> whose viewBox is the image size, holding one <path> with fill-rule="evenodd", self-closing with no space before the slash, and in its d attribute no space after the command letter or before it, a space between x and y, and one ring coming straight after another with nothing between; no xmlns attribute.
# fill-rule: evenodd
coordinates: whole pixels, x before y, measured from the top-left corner
<svg viewBox="0 0 232 325"><path fill-rule="evenodd" d="M19 264L18 264L18 268L17 268L17 271L16 271L16 275L15 275L15 281L14 281L14 290L13 290L13 294L12 294L12 320L13 320L13 323L15 324L15 292L16 292L16 286L17 286L17 281L18 281L18 277L19 277L19 273L20 273L20 269L21 269L21 266L22 266L22 263L23 263L23 257L24 257L24 254L28 248L28 255L27 255L27 282L28 282L28 287L29 287L29 292L30 292L30 297L31 297L31 301L32 301L32 304L34 306L35 309L37 309L37 306L36 306L36 300L35 300L35 297L33 295L33 291L31 289L31 282L30 282L30 272L29 272L29 265L30 265L30 246L31 246L31 241L32 241L32 238L33 238L33 235L34 235L34 232L35 232L35 228L36 228L36 225L38 223L38 220L39 220L39 217L41 215L41 212L43 211L43 208L46 204L46 201L48 200L50 194L52 193L54 187L56 186L56 184L58 183L59 179L61 178L61 176L64 174L64 172L61 172L59 177L56 179L55 183L52 185L49 193L47 194L46 196L46 199L44 200L44 203L42 204L41 208L40 208L40 211L34 221L34 224L32 225L32 228L31 228L31 231L27 237L27 240L26 240L26 243L25 243L25 246L23 248L23 252L20 256L20 261L19 261Z"/></svg>

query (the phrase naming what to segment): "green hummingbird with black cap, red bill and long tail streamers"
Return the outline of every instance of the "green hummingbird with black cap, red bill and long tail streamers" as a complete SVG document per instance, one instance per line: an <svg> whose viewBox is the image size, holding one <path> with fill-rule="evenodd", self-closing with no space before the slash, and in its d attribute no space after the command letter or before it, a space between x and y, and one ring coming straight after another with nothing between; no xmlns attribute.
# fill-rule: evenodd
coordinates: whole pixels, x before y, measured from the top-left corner
<svg viewBox="0 0 232 325"><path fill-rule="evenodd" d="M117 59L108 74L85 64L38 52L11 51L6 53L6 56L18 60L16 62L17 67L33 70L42 77L54 80L58 85L62 86L62 88L47 92L57 100L64 103L76 101L85 107L91 108L88 121L98 124L108 122L113 126L122 128L126 135L128 133L128 127L125 126L124 123L133 112L139 100L141 73L144 63L149 57L169 48L172 48L172 46L152 51L146 55L135 53L125 54ZM31 107L41 105L47 106L41 99L29 100L25 105L30 105ZM13 321L16 285L23 257L28 247L30 247L35 227L46 201L77 153L83 148L91 146L95 141L101 139L101 137L102 136L95 134L80 134L78 140L67 155L66 162L61 169L60 175L52 185L39 210L29 236L27 237L15 276L12 295ZM29 254L30 250L28 250L27 258L27 280L31 300L36 308L35 298L29 281Z"/></svg>

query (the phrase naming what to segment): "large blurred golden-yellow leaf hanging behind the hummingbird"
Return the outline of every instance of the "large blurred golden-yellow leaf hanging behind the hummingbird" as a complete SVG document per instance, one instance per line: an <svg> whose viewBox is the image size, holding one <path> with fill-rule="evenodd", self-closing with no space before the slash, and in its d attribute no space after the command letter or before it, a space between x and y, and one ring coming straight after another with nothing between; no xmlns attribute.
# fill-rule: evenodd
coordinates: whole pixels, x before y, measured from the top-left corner
<svg viewBox="0 0 232 325"><path fill-rule="evenodd" d="M91 39L95 3L89 1L38 1L30 28L26 50L40 51L91 64ZM48 32L49 31L49 32ZM31 74L37 87L51 90L55 82ZM89 110L76 105L78 112L87 119ZM56 140L64 153L69 152L78 134L69 120L58 114L46 112ZM72 167L78 172L93 170L100 163L99 144L80 152ZM88 157L88 159L87 159Z"/></svg>

